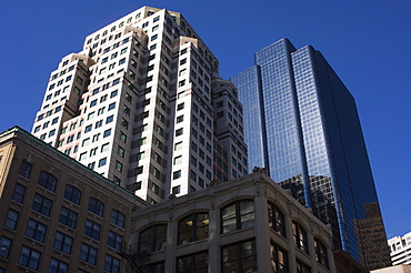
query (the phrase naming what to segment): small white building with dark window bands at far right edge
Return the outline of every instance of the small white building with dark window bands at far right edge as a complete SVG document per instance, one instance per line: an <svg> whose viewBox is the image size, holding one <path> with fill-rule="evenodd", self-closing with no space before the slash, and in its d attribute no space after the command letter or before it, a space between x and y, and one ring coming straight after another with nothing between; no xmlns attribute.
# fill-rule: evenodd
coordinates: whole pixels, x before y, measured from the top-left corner
<svg viewBox="0 0 411 273"><path fill-rule="evenodd" d="M388 240L392 265L411 264L411 232Z"/></svg>

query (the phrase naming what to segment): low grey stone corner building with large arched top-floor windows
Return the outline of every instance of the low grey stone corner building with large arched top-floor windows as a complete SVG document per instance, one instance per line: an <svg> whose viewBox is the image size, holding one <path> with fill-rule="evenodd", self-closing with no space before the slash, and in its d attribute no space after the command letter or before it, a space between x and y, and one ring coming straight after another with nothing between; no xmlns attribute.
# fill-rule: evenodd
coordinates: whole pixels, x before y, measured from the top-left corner
<svg viewBox="0 0 411 273"><path fill-rule="evenodd" d="M130 272L338 272L330 226L261 169L133 215Z"/></svg>

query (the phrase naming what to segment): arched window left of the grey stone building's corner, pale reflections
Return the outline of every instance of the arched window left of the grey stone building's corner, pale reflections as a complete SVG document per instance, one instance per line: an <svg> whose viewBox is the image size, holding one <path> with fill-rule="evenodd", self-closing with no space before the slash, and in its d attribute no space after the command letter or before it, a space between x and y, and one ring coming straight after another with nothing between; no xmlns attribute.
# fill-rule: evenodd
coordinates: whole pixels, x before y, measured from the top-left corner
<svg viewBox="0 0 411 273"><path fill-rule="evenodd" d="M254 226L254 203L242 200L221 210L222 233Z"/></svg>

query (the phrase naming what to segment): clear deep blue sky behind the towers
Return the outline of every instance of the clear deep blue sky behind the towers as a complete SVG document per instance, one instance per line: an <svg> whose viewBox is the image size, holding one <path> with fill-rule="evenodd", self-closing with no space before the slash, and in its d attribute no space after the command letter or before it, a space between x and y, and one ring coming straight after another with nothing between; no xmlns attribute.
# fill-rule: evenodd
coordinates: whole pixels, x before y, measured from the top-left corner
<svg viewBox="0 0 411 273"><path fill-rule="evenodd" d="M0 131L30 131L60 59L142 6L181 12L224 79L281 38L320 50L357 100L388 236L411 231L410 0L1 1Z"/></svg>

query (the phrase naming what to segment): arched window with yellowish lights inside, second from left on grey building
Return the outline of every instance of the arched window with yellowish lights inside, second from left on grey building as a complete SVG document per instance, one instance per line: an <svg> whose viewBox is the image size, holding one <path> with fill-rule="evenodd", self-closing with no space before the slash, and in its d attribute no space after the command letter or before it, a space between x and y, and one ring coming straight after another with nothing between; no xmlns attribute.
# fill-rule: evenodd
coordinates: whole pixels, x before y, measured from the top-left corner
<svg viewBox="0 0 411 273"><path fill-rule="evenodd" d="M209 236L209 214L193 213L179 222L179 244L187 244Z"/></svg>

